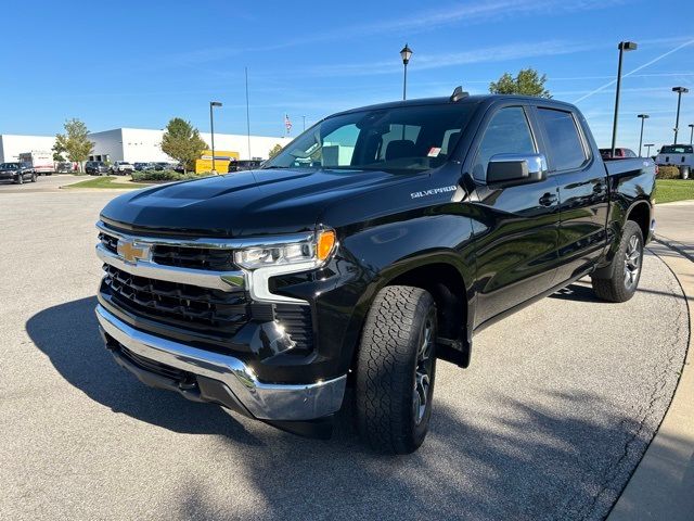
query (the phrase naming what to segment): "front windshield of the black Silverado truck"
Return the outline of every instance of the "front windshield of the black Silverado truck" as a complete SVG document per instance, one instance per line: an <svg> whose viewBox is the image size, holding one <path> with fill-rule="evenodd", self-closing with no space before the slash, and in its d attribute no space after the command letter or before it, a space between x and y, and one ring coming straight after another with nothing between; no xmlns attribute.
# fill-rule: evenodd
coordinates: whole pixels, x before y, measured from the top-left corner
<svg viewBox="0 0 694 521"><path fill-rule="evenodd" d="M474 106L401 106L329 117L287 144L262 168L436 168L450 156Z"/></svg>

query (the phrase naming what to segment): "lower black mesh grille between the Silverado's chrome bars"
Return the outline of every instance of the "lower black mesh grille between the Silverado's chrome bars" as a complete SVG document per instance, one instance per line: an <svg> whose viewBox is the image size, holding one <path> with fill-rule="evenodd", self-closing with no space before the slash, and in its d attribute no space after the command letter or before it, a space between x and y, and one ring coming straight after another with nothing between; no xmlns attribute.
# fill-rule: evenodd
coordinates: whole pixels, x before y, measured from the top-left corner
<svg viewBox="0 0 694 521"><path fill-rule="evenodd" d="M224 292L137 277L104 265L104 284L118 307L176 327L229 338L249 319L243 291Z"/></svg>

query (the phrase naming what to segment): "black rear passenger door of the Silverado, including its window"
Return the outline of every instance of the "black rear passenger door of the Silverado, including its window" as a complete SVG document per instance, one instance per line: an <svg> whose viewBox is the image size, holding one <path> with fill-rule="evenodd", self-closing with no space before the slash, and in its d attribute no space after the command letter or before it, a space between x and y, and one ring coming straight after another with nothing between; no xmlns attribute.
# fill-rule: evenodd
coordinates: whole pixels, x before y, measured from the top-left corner
<svg viewBox="0 0 694 521"><path fill-rule="evenodd" d="M535 113L549 175L560 188L558 284L589 270L606 244L607 173L602 160L592 155L579 113L542 105Z"/></svg>

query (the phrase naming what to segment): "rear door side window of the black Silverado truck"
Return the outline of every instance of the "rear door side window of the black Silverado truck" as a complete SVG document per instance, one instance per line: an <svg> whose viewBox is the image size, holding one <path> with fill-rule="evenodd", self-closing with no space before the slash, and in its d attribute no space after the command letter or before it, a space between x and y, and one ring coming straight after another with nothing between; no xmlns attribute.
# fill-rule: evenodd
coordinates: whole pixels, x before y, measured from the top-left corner
<svg viewBox="0 0 694 521"><path fill-rule="evenodd" d="M586 163L583 142L570 112L538 107L547 134L553 170L573 170Z"/></svg>

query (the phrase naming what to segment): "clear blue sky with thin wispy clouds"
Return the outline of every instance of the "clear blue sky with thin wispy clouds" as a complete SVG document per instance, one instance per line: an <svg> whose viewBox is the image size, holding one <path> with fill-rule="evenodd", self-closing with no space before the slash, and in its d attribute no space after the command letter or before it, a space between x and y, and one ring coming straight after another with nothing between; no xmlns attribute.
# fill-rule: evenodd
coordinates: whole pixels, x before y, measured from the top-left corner
<svg viewBox="0 0 694 521"><path fill-rule="evenodd" d="M174 116L245 134L244 66L255 135L280 136L287 113L300 131L335 111L401 97L486 92L504 72L532 66L555 98L577 102L608 144L617 43L625 55L618 144L680 141L694 123L694 1L487 0L422 2L23 1L4 7L0 134L52 135L66 118L90 130L163 128ZM689 43L689 45L687 45ZM602 88L602 90L601 90Z"/></svg>

